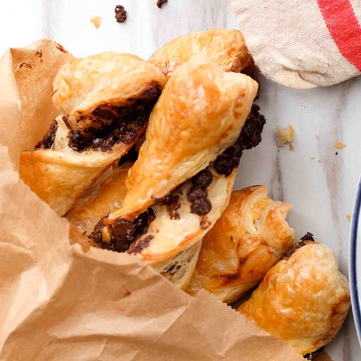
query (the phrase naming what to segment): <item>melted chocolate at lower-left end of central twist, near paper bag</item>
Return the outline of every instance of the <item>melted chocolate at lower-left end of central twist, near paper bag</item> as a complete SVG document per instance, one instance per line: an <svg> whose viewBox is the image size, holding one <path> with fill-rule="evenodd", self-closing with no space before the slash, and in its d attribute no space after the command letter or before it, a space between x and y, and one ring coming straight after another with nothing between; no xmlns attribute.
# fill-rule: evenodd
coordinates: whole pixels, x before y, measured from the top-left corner
<svg viewBox="0 0 361 361"><path fill-rule="evenodd" d="M108 216L106 216L108 217ZM133 242L135 242L138 238L140 238L143 234L147 233L149 229L149 225L154 221L156 218L153 209L148 208L144 213L139 214L134 221L126 221L124 219L119 219L113 222L110 225L110 232L112 234L110 238L110 242L103 242L103 236L101 234L100 229L104 226L104 218L103 217L97 225L94 227L94 231L90 235L90 238L97 244L100 244L101 248L110 249L112 251L117 252L126 252L129 250L129 247ZM134 249L139 249L141 247L145 248L153 236L151 238L146 237L144 240L141 240L138 245ZM142 249L143 249L142 248Z"/></svg>

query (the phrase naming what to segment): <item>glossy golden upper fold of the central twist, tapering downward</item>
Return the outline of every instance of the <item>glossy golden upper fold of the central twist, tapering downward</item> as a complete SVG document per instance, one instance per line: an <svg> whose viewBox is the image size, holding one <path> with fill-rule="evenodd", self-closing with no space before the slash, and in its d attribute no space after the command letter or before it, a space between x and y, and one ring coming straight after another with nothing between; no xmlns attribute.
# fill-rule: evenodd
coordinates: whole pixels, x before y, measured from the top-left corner
<svg viewBox="0 0 361 361"><path fill-rule="evenodd" d="M134 219L233 145L257 90L252 78L226 73L203 55L179 66L149 117L123 207L105 223Z"/></svg>

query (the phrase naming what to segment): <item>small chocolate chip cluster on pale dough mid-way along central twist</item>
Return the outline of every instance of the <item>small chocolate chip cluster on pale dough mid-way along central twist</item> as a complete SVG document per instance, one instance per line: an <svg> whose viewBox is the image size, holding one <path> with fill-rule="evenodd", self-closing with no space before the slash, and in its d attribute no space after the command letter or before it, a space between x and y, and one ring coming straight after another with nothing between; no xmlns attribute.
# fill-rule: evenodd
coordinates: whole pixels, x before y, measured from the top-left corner
<svg viewBox="0 0 361 361"><path fill-rule="evenodd" d="M212 209L208 197L207 187L212 183L213 175L208 168L196 174L191 181L193 187L187 195L188 201L191 202L191 213L204 216Z"/></svg>

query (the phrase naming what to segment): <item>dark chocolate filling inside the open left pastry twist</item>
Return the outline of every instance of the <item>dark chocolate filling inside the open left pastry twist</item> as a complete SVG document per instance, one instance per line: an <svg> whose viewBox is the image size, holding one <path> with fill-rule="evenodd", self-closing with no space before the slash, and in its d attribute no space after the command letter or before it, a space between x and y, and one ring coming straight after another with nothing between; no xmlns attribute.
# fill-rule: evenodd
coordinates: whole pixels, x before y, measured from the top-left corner
<svg viewBox="0 0 361 361"><path fill-rule="evenodd" d="M100 122L98 129L88 127L84 131L71 130L69 134L69 147L75 151L83 152L87 149L100 149L103 152L112 149L114 144L131 144L139 137L149 114L158 100L161 88L156 82L150 84L142 96L128 106L100 105L92 113L92 117L107 119L107 123ZM134 99L128 99L133 102ZM66 116L63 117L67 124ZM110 123L109 123L110 120ZM68 126L68 124L67 124ZM69 126L68 126L69 127Z"/></svg>

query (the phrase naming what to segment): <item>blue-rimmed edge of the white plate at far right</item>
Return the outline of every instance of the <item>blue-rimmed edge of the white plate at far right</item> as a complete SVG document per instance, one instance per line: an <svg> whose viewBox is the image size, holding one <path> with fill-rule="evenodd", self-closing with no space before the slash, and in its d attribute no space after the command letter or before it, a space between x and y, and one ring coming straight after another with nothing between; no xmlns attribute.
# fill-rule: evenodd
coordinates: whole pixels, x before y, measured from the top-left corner
<svg viewBox="0 0 361 361"><path fill-rule="evenodd" d="M355 326L358 336L358 341L361 344L361 305L360 298L357 290L357 247L361 247L361 236L358 237L357 232L360 232L361 235L361 179L358 182L355 203L353 205L353 213L351 219L351 234L350 234L350 244L349 244L349 262L348 262L348 274L350 279L350 292L351 292L351 303L352 303L352 312L353 318L355 320ZM359 223L360 221L360 223ZM360 230L358 228L360 227ZM359 239L358 239L359 238ZM358 241L358 245L357 245ZM359 251L360 252L360 251ZM361 253L361 252L360 252ZM359 267L361 264L359 265ZM361 279L359 279L361 287Z"/></svg>

